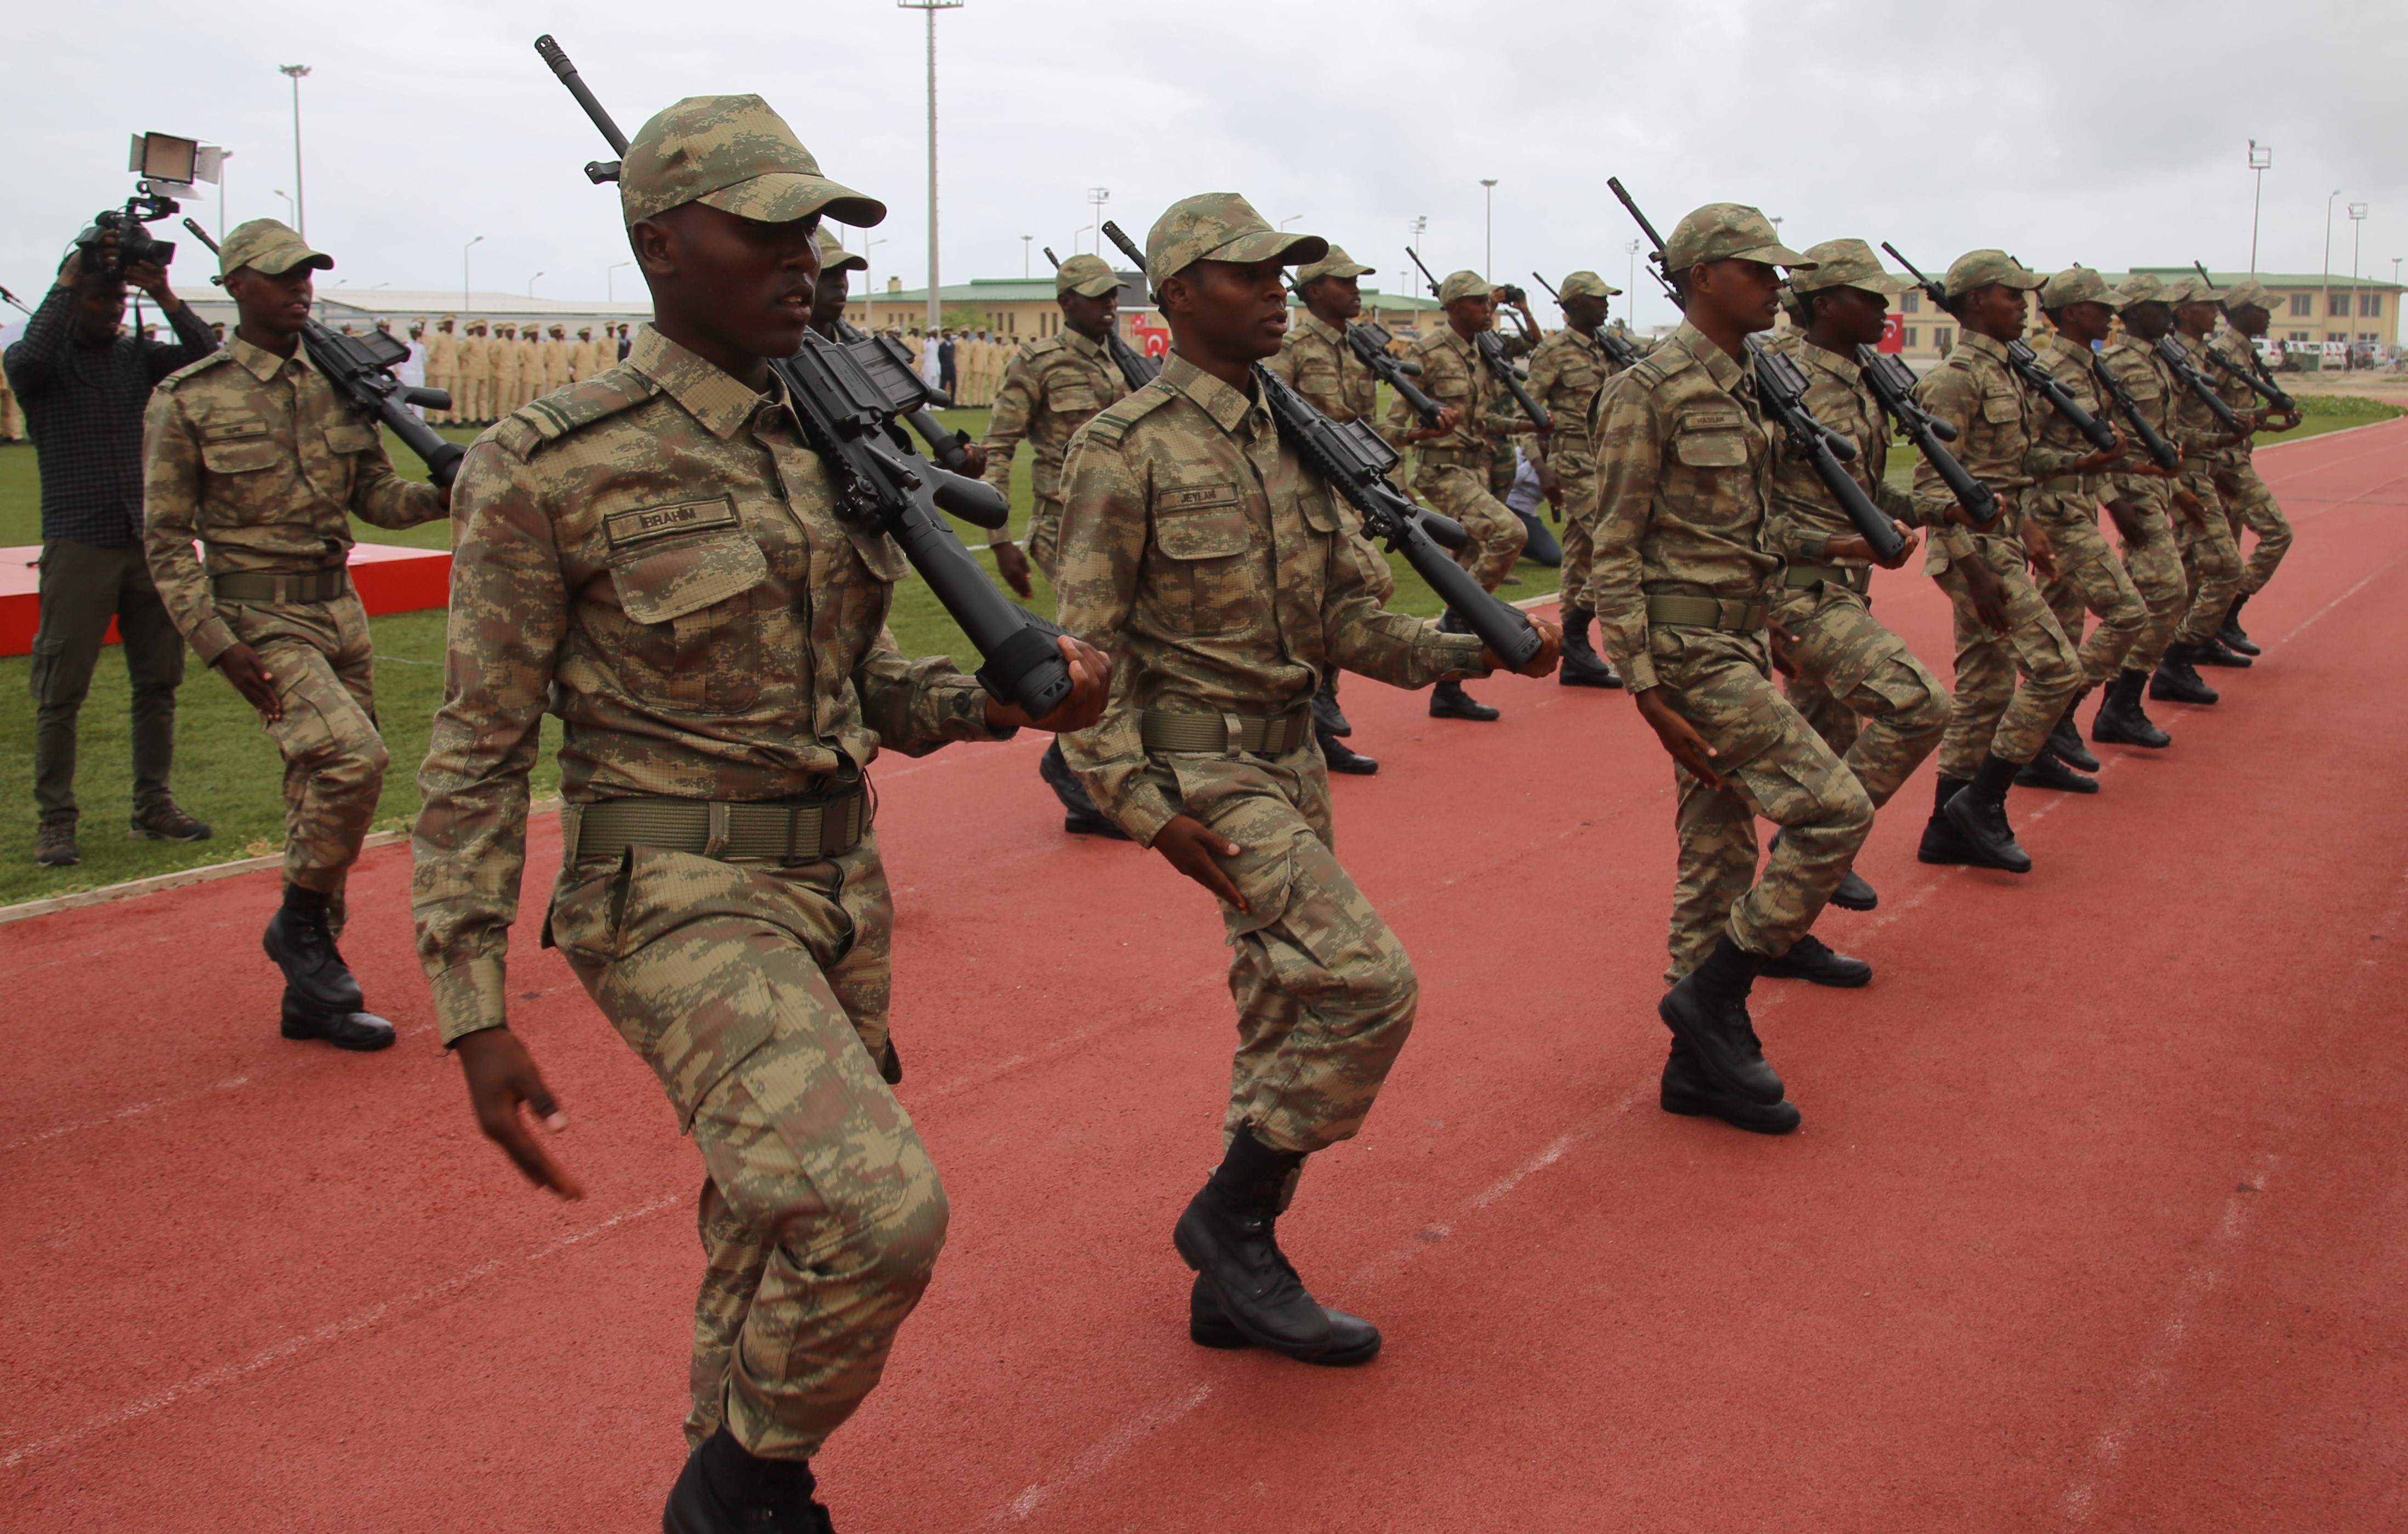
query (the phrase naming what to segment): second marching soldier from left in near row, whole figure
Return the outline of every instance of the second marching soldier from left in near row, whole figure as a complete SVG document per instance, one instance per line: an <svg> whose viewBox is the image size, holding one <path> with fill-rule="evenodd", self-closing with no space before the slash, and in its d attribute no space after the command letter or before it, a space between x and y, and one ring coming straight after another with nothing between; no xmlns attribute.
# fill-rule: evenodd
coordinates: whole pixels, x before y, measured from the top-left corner
<svg viewBox="0 0 2408 1534"><path fill-rule="evenodd" d="M1250 368L1279 352L1281 267L1324 241L1279 234L1235 193L1175 202L1146 236L1170 323L1161 378L1074 438L1062 624L1115 650L1112 694L1067 749L1110 814L1221 903L1238 1002L1226 1154L1180 1214L1187 1334L1320 1365L1380 1329L1320 1305L1276 1221L1310 1154L1361 1129L1418 1002L1413 966L1329 852L1329 780L1308 727L1317 672L1397 686L1481 674L1479 638L1382 612L1336 496ZM1546 674L1553 633L1524 667Z"/></svg>

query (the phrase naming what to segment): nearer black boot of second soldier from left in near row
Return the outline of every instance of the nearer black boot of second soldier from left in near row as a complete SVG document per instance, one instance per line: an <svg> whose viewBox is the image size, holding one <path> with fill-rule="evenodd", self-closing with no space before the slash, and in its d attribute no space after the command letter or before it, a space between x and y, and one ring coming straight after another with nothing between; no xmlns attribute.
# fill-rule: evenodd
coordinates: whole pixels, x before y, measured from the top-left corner
<svg viewBox="0 0 2408 1534"><path fill-rule="evenodd" d="M1361 1349L1365 1339L1353 1327L1341 1339L1332 1322L1334 1312L1322 1310L1279 1250L1279 1194L1303 1161L1300 1151L1274 1151L1252 1129L1238 1129L1228 1141L1228 1156L1197 1197L1187 1199L1170 1240L1180 1259L1211 1288L1223 1320L1240 1337L1259 1349L1317 1363L1341 1341ZM1373 1332L1370 1346L1377 1351L1377 1329L1370 1322L1363 1327Z"/></svg>

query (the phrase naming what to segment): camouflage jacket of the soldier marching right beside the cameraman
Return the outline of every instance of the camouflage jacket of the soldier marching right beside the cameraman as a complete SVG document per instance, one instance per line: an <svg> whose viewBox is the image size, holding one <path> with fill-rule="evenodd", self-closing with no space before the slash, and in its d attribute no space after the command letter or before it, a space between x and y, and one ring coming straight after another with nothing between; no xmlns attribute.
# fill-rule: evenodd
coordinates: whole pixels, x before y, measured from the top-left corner
<svg viewBox="0 0 2408 1534"><path fill-rule="evenodd" d="M209 576L340 568L354 513L378 527L417 527L443 515L443 496L393 472L376 421L299 347L277 356L229 335L152 393L142 539L159 600L205 662L234 643ZM195 537L207 566L193 559Z"/></svg>

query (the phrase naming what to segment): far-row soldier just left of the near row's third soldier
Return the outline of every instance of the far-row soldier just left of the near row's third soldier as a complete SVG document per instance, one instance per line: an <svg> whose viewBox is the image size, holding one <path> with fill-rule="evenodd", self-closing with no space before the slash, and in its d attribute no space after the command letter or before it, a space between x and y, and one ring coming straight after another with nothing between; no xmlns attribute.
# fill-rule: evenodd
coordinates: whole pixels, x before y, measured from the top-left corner
<svg viewBox="0 0 2408 1534"><path fill-rule="evenodd" d="M1597 448L1589 412L1597 393L1618 368L1606 359L1597 328L1609 299L1623 289L1597 272L1572 272L1556 289L1563 330L1539 342L1529 356L1529 397L1556 421L1522 448L1539 474L1539 494L1563 515L1563 686L1621 686L1613 667L1589 648L1589 559L1597 537Z"/></svg>

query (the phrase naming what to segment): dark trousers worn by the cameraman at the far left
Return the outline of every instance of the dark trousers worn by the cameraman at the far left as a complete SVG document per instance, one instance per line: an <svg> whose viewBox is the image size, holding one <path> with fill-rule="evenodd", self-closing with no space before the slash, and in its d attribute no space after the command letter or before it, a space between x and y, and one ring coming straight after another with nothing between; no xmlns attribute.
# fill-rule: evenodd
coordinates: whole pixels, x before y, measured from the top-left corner
<svg viewBox="0 0 2408 1534"><path fill-rule="evenodd" d="M169 797L183 636L159 602L142 544L94 549L51 539L41 547L41 629L34 633L34 804L43 821L75 819L75 715L92 691L108 619L125 641L135 694L135 809Z"/></svg>

